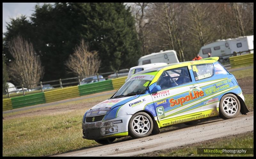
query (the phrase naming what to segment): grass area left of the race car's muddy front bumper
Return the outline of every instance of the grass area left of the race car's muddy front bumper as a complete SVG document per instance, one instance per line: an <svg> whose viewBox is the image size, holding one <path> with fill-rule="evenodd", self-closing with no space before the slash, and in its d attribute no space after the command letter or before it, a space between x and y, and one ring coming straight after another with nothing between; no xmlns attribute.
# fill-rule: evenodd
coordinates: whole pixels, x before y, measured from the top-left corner
<svg viewBox="0 0 256 159"><path fill-rule="evenodd" d="M3 156L45 156L98 145L82 138L83 114L3 120Z"/></svg>

